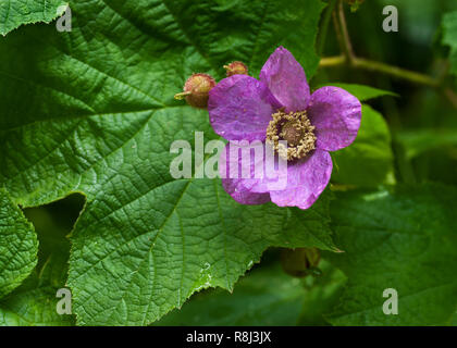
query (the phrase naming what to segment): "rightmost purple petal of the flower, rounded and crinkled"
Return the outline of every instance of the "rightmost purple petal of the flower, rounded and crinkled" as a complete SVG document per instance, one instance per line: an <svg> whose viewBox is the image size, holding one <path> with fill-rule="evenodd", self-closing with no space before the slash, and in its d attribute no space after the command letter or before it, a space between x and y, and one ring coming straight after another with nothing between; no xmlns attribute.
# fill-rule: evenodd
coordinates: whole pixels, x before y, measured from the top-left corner
<svg viewBox="0 0 457 348"><path fill-rule="evenodd" d="M361 120L360 101L338 87L322 87L311 96L308 116L316 126L317 147L336 151L357 137Z"/></svg>

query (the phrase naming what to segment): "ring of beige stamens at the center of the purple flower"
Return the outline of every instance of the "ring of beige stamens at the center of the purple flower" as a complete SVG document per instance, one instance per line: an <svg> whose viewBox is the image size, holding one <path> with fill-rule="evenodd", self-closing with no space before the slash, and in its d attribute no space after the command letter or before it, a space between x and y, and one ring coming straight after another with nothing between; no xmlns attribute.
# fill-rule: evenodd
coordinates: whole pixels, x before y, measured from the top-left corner
<svg viewBox="0 0 457 348"><path fill-rule="evenodd" d="M314 126L307 112L285 113L284 109L271 115L273 117L267 128L267 141L287 161L298 160L316 149ZM287 146L280 142L287 141Z"/></svg>

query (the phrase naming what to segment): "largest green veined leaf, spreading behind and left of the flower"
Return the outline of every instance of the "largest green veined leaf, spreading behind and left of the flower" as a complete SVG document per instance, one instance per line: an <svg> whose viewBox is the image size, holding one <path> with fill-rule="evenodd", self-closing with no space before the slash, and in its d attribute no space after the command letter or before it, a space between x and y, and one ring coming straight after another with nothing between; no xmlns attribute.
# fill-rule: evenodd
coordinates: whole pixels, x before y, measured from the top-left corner
<svg viewBox="0 0 457 348"><path fill-rule="evenodd" d="M69 277L79 324L150 323L197 289L231 289L270 245L309 246L312 233L333 247L328 217L313 210L299 216L308 228L282 235L287 210L243 207L219 181L169 171L173 140L215 138L207 112L173 100L186 77L221 78L232 60L256 73L279 45L310 77L321 9L77 1L71 33L37 25L0 39L0 185L25 207L87 198Z"/></svg>

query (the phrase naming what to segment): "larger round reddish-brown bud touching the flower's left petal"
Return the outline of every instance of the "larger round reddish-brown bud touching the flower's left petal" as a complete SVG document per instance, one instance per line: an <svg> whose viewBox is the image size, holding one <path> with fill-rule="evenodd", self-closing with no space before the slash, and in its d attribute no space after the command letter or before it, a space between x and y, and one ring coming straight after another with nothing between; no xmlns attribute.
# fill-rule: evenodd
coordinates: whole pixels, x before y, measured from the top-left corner
<svg viewBox="0 0 457 348"><path fill-rule="evenodd" d="M186 99L194 108L208 108L209 91L215 86L215 80L208 74L193 74L184 85L184 91L174 96L174 99Z"/></svg>

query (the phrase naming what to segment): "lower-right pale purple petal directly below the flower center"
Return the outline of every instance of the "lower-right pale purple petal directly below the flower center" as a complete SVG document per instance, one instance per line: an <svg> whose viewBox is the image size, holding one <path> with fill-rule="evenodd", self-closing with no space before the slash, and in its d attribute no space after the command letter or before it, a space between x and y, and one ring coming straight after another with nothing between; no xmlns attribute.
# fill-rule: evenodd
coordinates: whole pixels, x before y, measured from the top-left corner
<svg viewBox="0 0 457 348"><path fill-rule="evenodd" d="M330 153L320 149L302 161L289 163L287 187L270 187L271 201L280 207L310 208L329 184L332 169Z"/></svg>

